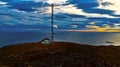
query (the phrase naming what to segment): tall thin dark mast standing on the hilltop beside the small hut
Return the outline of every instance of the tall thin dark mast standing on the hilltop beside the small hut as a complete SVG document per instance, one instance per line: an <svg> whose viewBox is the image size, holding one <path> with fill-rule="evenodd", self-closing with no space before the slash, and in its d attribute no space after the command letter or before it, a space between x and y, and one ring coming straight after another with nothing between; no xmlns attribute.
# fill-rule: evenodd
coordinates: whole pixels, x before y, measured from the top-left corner
<svg viewBox="0 0 120 67"><path fill-rule="evenodd" d="M51 42L54 40L54 4L51 4Z"/></svg>

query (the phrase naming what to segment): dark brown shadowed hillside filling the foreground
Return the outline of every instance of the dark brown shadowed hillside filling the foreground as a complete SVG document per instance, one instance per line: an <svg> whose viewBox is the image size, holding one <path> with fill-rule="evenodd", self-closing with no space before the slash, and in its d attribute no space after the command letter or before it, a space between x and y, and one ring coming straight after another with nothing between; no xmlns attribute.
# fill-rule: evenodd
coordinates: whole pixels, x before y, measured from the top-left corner
<svg viewBox="0 0 120 67"><path fill-rule="evenodd" d="M120 47L17 44L0 48L0 67L120 67Z"/></svg>

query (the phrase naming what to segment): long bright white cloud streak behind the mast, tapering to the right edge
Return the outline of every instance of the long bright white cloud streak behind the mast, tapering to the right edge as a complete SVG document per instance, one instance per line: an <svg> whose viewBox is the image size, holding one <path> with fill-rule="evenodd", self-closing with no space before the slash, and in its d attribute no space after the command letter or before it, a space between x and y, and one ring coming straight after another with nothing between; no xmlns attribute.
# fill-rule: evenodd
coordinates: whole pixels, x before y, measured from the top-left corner
<svg viewBox="0 0 120 67"><path fill-rule="evenodd" d="M108 14L98 14L98 13L86 13L83 9L78 9L75 5L60 5L54 7L54 13L66 13L66 14L75 14L75 15L83 15L85 17L98 17L98 18L118 18L114 16L110 16ZM51 13L51 7L44 7L43 9L45 13Z"/></svg>

